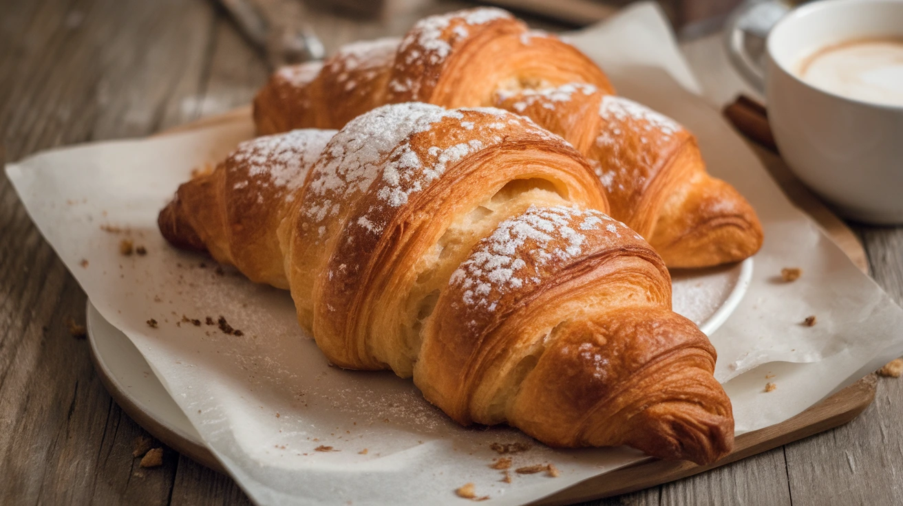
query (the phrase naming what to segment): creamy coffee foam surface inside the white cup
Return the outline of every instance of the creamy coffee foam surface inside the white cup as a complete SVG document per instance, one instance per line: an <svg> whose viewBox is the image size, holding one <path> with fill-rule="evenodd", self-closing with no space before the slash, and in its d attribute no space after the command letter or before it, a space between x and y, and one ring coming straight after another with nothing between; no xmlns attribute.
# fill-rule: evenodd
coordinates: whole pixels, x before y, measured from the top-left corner
<svg viewBox="0 0 903 506"><path fill-rule="evenodd" d="M796 76L830 93L903 106L903 39L844 41L815 51Z"/></svg>

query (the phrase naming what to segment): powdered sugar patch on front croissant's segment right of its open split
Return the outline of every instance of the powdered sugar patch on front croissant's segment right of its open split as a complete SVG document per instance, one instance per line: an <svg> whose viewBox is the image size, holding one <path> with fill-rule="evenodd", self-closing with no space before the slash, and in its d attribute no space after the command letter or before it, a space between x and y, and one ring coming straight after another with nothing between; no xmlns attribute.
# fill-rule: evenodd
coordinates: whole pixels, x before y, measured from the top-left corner
<svg viewBox="0 0 903 506"><path fill-rule="evenodd" d="M510 290L539 284L545 264L580 256L585 233L602 230L603 223L605 228L628 230L593 209L531 206L524 214L500 223L492 235L481 240L454 271L449 284L461 287L466 306L492 311Z"/></svg>

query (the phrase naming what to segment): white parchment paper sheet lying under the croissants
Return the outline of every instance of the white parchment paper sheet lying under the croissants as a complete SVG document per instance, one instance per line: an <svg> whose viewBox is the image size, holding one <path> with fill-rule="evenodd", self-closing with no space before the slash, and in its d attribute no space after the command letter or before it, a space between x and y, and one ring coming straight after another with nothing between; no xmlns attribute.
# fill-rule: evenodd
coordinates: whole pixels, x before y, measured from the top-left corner
<svg viewBox="0 0 903 506"><path fill-rule="evenodd" d="M640 5L573 41L609 71L621 94L694 131L709 170L740 189L765 225L749 293L712 336L740 433L792 417L903 354L903 310L787 201L721 116L663 70L694 89L664 26L654 7ZM251 135L250 121L237 120L43 152L6 171L100 313L135 343L254 501L461 503L452 491L472 482L491 503L522 504L644 458L624 448L552 450L510 428L461 428L410 381L331 368L295 324L285 292L165 244L155 219L174 189L191 168L219 160ZM124 239L147 254L121 255ZM801 267L803 277L777 282L788 266ZM799 325L809 315L818 324ZM205 323L220 316L243 335ZM767 373L778 386L768 394ZM561 476L501 483L487 466L498 456L489 449L494 442L531 444L514 455L515 467L550 462Z"/></svg>

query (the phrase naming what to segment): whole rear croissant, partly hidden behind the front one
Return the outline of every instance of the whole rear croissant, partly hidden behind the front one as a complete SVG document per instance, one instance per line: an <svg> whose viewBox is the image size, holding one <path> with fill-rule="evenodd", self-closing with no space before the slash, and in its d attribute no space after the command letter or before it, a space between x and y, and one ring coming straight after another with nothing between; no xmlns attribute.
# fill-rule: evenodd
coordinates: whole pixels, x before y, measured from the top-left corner
<svg viewBox="0 0 903 506"><path fill-rule="evenodd" d="M257 94L254 118L260 133L278 133L340 128L373 107L411 100L502 107L586 155L611 216L669 267L738 262L759 251L759 218L736 189L708 175L694 136L613 93L572 45L530 32L500 9L478 8L424 18L402 40L357 42L322 63L280 69Z"/></svg>

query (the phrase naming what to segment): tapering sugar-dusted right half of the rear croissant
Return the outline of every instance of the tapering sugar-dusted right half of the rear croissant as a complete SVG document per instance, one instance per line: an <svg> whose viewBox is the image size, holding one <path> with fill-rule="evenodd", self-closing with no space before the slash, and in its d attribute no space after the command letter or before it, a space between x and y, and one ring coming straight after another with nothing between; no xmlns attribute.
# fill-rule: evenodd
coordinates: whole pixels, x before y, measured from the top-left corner
<svg viewBox="0 0 903 506"><path fill-rule="evenodd" d="M558 133L593 163L611 216L642 235L668 267L738 262L762 245L759 217L705 170L692 133L592 85L499 92L496 105Z"/></svg>

